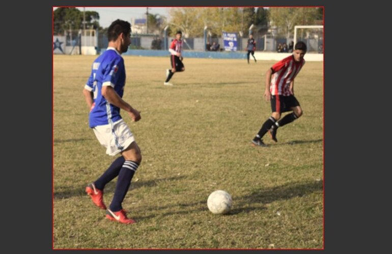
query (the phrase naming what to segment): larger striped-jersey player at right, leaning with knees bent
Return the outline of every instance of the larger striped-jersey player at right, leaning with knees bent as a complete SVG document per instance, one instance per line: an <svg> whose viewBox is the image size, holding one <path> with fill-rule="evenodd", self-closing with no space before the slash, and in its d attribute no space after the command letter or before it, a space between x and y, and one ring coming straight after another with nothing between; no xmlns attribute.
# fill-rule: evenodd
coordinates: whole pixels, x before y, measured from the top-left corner
<svg viewBox="0 0 392 254"><path fill-rule="evenodd" d="M278 61L266 72L265 92L266 101L271 101L271 116L263 123L260 131L252 140L253 146L267 146L262 138L269 132L273 141L277 142L276 130L302 115L298 100L294 97L294 79L305 64L303 56L306 44L297 42L293 54ZM281 114L292 111L281 120Z"/></svg>

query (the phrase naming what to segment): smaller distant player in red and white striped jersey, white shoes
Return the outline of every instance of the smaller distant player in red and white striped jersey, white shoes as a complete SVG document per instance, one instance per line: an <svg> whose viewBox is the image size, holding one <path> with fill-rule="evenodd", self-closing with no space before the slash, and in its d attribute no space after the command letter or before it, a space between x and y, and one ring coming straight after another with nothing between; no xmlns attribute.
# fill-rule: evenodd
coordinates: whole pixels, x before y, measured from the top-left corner
<svg viewBox="0 0 392 254"><path fill-rule="evenodd" d="M169 80L173 77L174 73L185 71L184 64L182 63L182 47L184 42L181 38L182 32L177 31L176 39L172 41L169 48L171 69L166 70L166 80L163 82L164 85L173 85L172 83L169 83Z"/></svg>

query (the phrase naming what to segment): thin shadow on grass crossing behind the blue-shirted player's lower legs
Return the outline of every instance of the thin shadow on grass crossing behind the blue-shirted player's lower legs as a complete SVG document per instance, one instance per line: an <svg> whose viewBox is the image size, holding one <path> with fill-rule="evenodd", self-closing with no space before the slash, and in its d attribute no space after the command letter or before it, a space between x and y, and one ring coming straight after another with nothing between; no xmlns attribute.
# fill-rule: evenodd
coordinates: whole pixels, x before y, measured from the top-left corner
<svg viewBox="0 0 392 254"><path fill-rule="evenodd" d="M181 178L184 178L185 176L176 176L176 177L169 177L169 178L162 178L162 179L153 179L153 180L149 180L149 181L137 181L131 182L131 186L129 187L129 191L131 191L132 189L135 188L140 188L143 186L147 186L147 187L153 187L156 186L160 181L176 181L179 180ZM110 181L109 183L106 184L105 186L105 193L114 193L115 188L116 188L116 183L117 183L117 179L115 178L114 180ZM66 188L65 190L61 190L61 191L56 191L54 190L54 199L68 199L71 197L77 197L77 196L84 196L87 195L85 192L85 188L86 188L87 184L84 186L80 186L78 188Z"/></svg>

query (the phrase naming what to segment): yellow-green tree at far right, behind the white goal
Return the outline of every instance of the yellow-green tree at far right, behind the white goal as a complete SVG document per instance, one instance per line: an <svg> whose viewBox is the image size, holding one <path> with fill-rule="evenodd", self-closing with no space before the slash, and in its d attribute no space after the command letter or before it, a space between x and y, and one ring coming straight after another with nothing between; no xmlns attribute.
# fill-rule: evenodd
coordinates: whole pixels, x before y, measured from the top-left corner
<svg viewBox="0 0 392 254"><path fill-rule="evenodd" d="M317 8L270 8L269 20L276 25L278 35L291 38L295 25L314 25L318 15Z"/></svg>

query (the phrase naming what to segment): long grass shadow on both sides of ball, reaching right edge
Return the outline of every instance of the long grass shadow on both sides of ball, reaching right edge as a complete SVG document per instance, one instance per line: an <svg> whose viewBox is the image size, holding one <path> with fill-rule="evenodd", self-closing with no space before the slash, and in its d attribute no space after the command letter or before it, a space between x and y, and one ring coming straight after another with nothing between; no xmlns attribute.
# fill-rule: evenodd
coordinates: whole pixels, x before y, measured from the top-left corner
<svg viewBox="0 0 392 254"><path fill-rule="evenodd" d="M322 181L306 181L306 182L295 182L288 183L285 185L273 187L273 188L260 188L255 190L249 195L242 197L233 197L235 208L232 209L226 215L234 215L238 213L247 213L254 210L265 210L266 207L260 207L260 205L252 206L252 204L268 204L278 200L289 200L295 197L302 197L307 194L323 190ZM166 206L157 207L144 207L143 209L148 211L164 210L164 209L176 209L176 211L164 212L160 216L170 216L173 214L187 214L193 212L206 211L207 198L199 202L192 203L178 203Z"/></svg>

